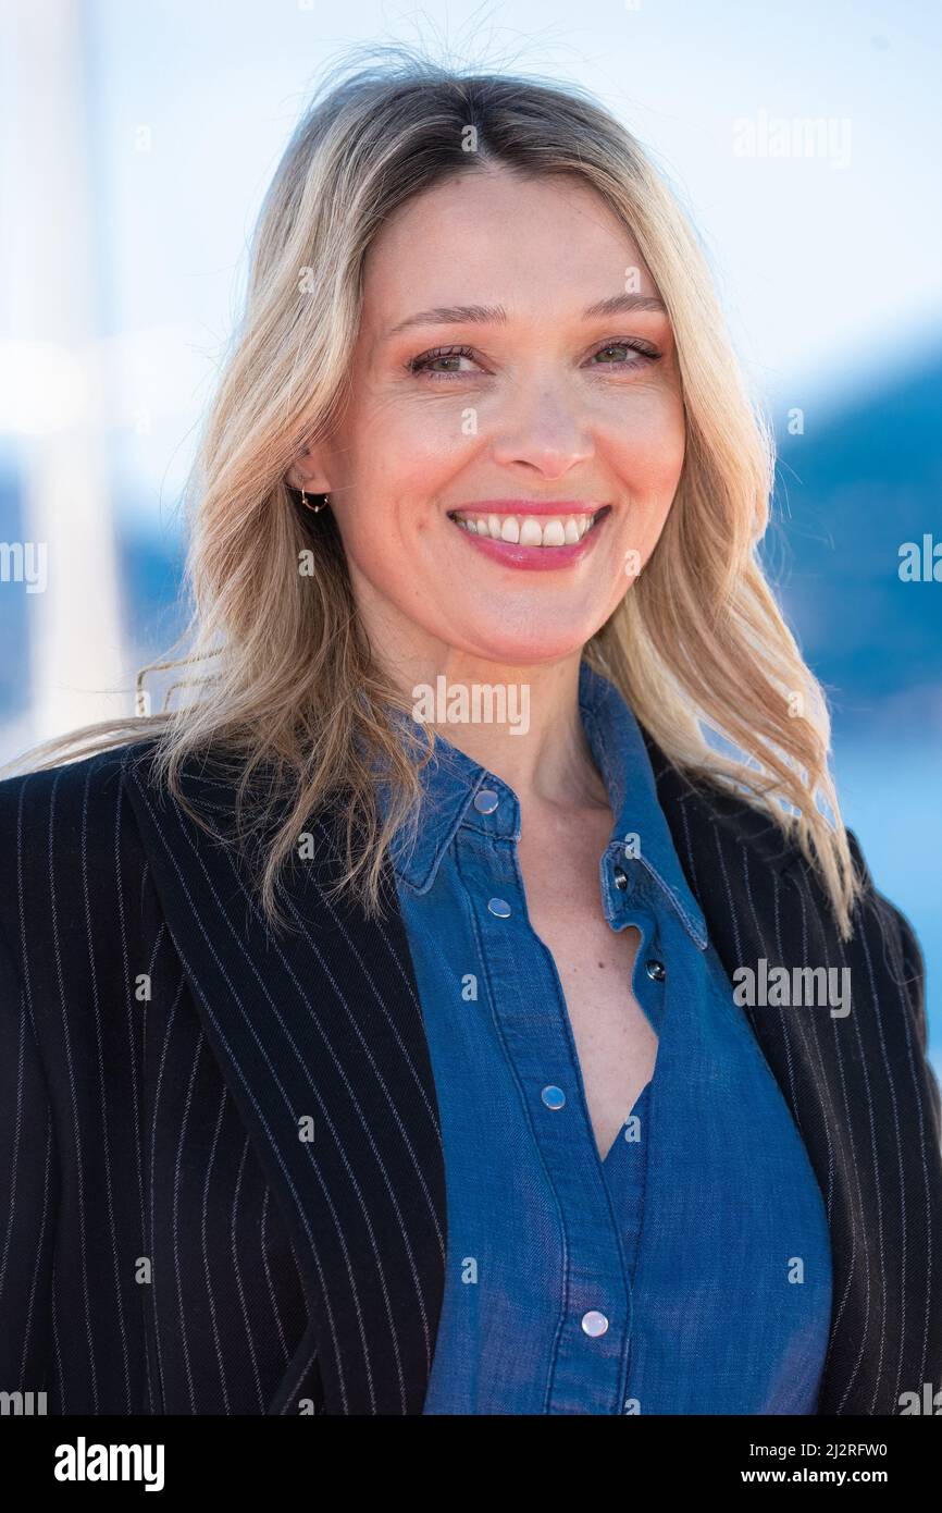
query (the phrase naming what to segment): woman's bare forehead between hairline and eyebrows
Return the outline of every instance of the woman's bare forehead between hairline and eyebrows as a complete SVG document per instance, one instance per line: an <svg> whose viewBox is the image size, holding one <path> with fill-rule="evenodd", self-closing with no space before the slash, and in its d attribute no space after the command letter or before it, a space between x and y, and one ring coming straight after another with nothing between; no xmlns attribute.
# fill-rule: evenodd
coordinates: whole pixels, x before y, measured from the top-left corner
<svg viewBox="0 0 942 1513"><path fill-rule="evenodd" d="M364 263L364 324L419 307L559 303L582 309L626 287L656 294L635 239L591 186L508 168L464 171L387 221Z"/></svg>

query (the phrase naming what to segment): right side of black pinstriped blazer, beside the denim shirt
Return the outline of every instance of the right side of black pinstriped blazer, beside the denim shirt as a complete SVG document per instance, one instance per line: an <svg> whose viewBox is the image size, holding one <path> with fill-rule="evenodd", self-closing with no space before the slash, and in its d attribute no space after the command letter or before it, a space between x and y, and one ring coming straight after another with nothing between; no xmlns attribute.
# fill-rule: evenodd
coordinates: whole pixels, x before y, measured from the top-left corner
<svg viewBox="0 0 942 1513"><path fill-rule="evenodd" d="M745 1008L818 1177L833 1309L818 1413L900 1413L942 1366L942 1153L937 1088L916 1044L901 943L875 899L850 943L777 826L703 796L649 738L677 855L727 971L765 959L847 970L848 1012ZM841 1006L844 1008L844 1006Z"/></svg>

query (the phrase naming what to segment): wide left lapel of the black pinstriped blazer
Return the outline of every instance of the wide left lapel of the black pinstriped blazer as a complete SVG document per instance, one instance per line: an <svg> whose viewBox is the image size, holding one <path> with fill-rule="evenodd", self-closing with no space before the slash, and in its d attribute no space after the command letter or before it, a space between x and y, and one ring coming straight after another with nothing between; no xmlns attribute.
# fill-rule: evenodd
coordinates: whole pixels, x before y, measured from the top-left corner
<svg viewBox="0 0 942 1513"><path fill-rule="evenodd" d="M248 876L159 793L150 743L125 788L194 1002L290 1226L310 1324L269 1404L420 1413L445 1283L445 1162L428 1044L395 905L376 926L331 905L336 838L310 834L275 935ZM234 791L189 764L183 790L224 834ZM392 894L387 885L387 905ZM315 1401L315 1410L321 1404Z"/></svg>

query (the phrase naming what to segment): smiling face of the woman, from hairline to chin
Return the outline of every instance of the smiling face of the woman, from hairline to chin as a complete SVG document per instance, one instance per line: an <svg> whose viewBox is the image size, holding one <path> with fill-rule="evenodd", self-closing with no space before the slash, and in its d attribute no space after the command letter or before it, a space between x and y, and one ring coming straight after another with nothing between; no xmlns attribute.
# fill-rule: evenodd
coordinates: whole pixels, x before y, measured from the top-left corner
<svg viewBox="0 0 942 1513"><path fill-rule="evenodd" d="M376 238L346 409L289 478L330 490L375 649L446 670L579 651L682 461L671 327L632 238L579 182L500 168Z"/></svg>

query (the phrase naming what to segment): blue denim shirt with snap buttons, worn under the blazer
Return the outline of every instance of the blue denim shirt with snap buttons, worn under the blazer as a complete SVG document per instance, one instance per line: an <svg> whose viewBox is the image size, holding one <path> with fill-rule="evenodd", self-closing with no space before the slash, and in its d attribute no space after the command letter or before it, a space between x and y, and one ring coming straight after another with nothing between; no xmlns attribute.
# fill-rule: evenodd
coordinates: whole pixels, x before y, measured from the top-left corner
<svg viewBox="0 0 942 1513"><path fill-rule="evenodd" d="M599 906L641 932L632 990L658 1035L603 1160L528 920L513 790L438 738L419 831L393 843L446 1170L425 1413L813 1413L832 1307L821 1192L635 717L585 661L579 708L614 814Z"/></svg>

